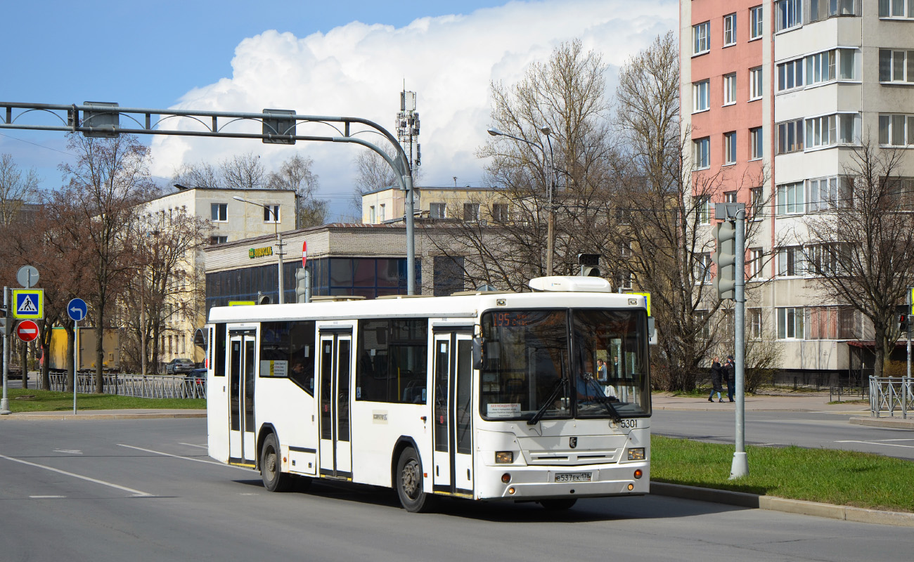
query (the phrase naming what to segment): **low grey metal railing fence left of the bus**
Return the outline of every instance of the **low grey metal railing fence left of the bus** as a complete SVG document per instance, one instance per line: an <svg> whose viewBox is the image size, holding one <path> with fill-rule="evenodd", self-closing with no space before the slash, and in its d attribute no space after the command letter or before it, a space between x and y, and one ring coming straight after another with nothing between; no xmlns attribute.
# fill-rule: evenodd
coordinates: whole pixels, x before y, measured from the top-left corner
<svg viewBox="0 0 914 562"><path fill-rule="evenodd" d="M65 373L50 374L51 390L67 390ZM102 375L101 391L136 398L207 398L204 379L186 378L183 375ZM76 377L76 392L95 392L95 375L80 373Z"/></svg>

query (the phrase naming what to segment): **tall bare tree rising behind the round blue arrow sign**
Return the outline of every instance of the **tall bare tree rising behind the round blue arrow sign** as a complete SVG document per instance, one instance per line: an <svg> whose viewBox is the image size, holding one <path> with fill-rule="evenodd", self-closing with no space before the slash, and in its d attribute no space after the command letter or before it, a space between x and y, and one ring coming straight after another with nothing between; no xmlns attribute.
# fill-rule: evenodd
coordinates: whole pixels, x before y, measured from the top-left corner
<svg viewBox="0 0 914 562"><path fill-rule="evenodd" d="M62 212L78 217L60 225L78 240L80 258L90 270L89 302L96 329L95 391L102 392L103 341L106 314L115 295L133 271L129 225L140 204L154 192L147 167L148 148L135 136L113 139L69 135L76 164L61 164L69 184L57 194Z"/></svg>

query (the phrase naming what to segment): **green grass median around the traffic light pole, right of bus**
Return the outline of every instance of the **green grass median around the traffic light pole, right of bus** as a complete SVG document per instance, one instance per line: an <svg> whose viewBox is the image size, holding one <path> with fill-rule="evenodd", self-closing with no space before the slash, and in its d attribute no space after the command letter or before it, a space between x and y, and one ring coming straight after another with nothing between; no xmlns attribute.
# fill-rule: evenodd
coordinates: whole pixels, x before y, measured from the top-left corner
<svg viewBox="0 0 914 562"><path fill-rule="evenodd" d="M651 437L651 479L794 500L914 512L914 462L856 451L748 446L749 474L728 480L734 445Z"/></svg>

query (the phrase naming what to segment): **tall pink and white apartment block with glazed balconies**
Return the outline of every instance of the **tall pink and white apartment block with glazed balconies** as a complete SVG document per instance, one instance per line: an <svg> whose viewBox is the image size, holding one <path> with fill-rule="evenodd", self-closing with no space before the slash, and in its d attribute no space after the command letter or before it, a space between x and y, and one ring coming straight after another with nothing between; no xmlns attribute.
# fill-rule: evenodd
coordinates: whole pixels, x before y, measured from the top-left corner
<svg viewBox="0 0 914 562"><path fill-rule="evenodd" d="M793 376L860 380L872 331L817 290L805 219L847 195L855 146L914 148L914 1L681 0L680 66L693 188L719 178L696 191L708 237L713 203L754 221L748 336L771 334Z"/></svg>

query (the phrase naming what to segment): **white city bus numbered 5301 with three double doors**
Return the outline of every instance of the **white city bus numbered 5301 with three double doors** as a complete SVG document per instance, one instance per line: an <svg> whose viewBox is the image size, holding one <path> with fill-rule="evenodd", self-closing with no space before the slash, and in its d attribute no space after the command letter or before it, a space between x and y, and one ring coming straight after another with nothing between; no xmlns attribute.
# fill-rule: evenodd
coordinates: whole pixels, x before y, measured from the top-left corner
<svg viewBox="0 0 914 562"><path fill-rule="evenodd" d="M436 494L564 509L648 493L644 297L530 286L213 308L209 455L271 491L360 482L417 512Z"/></svg>

